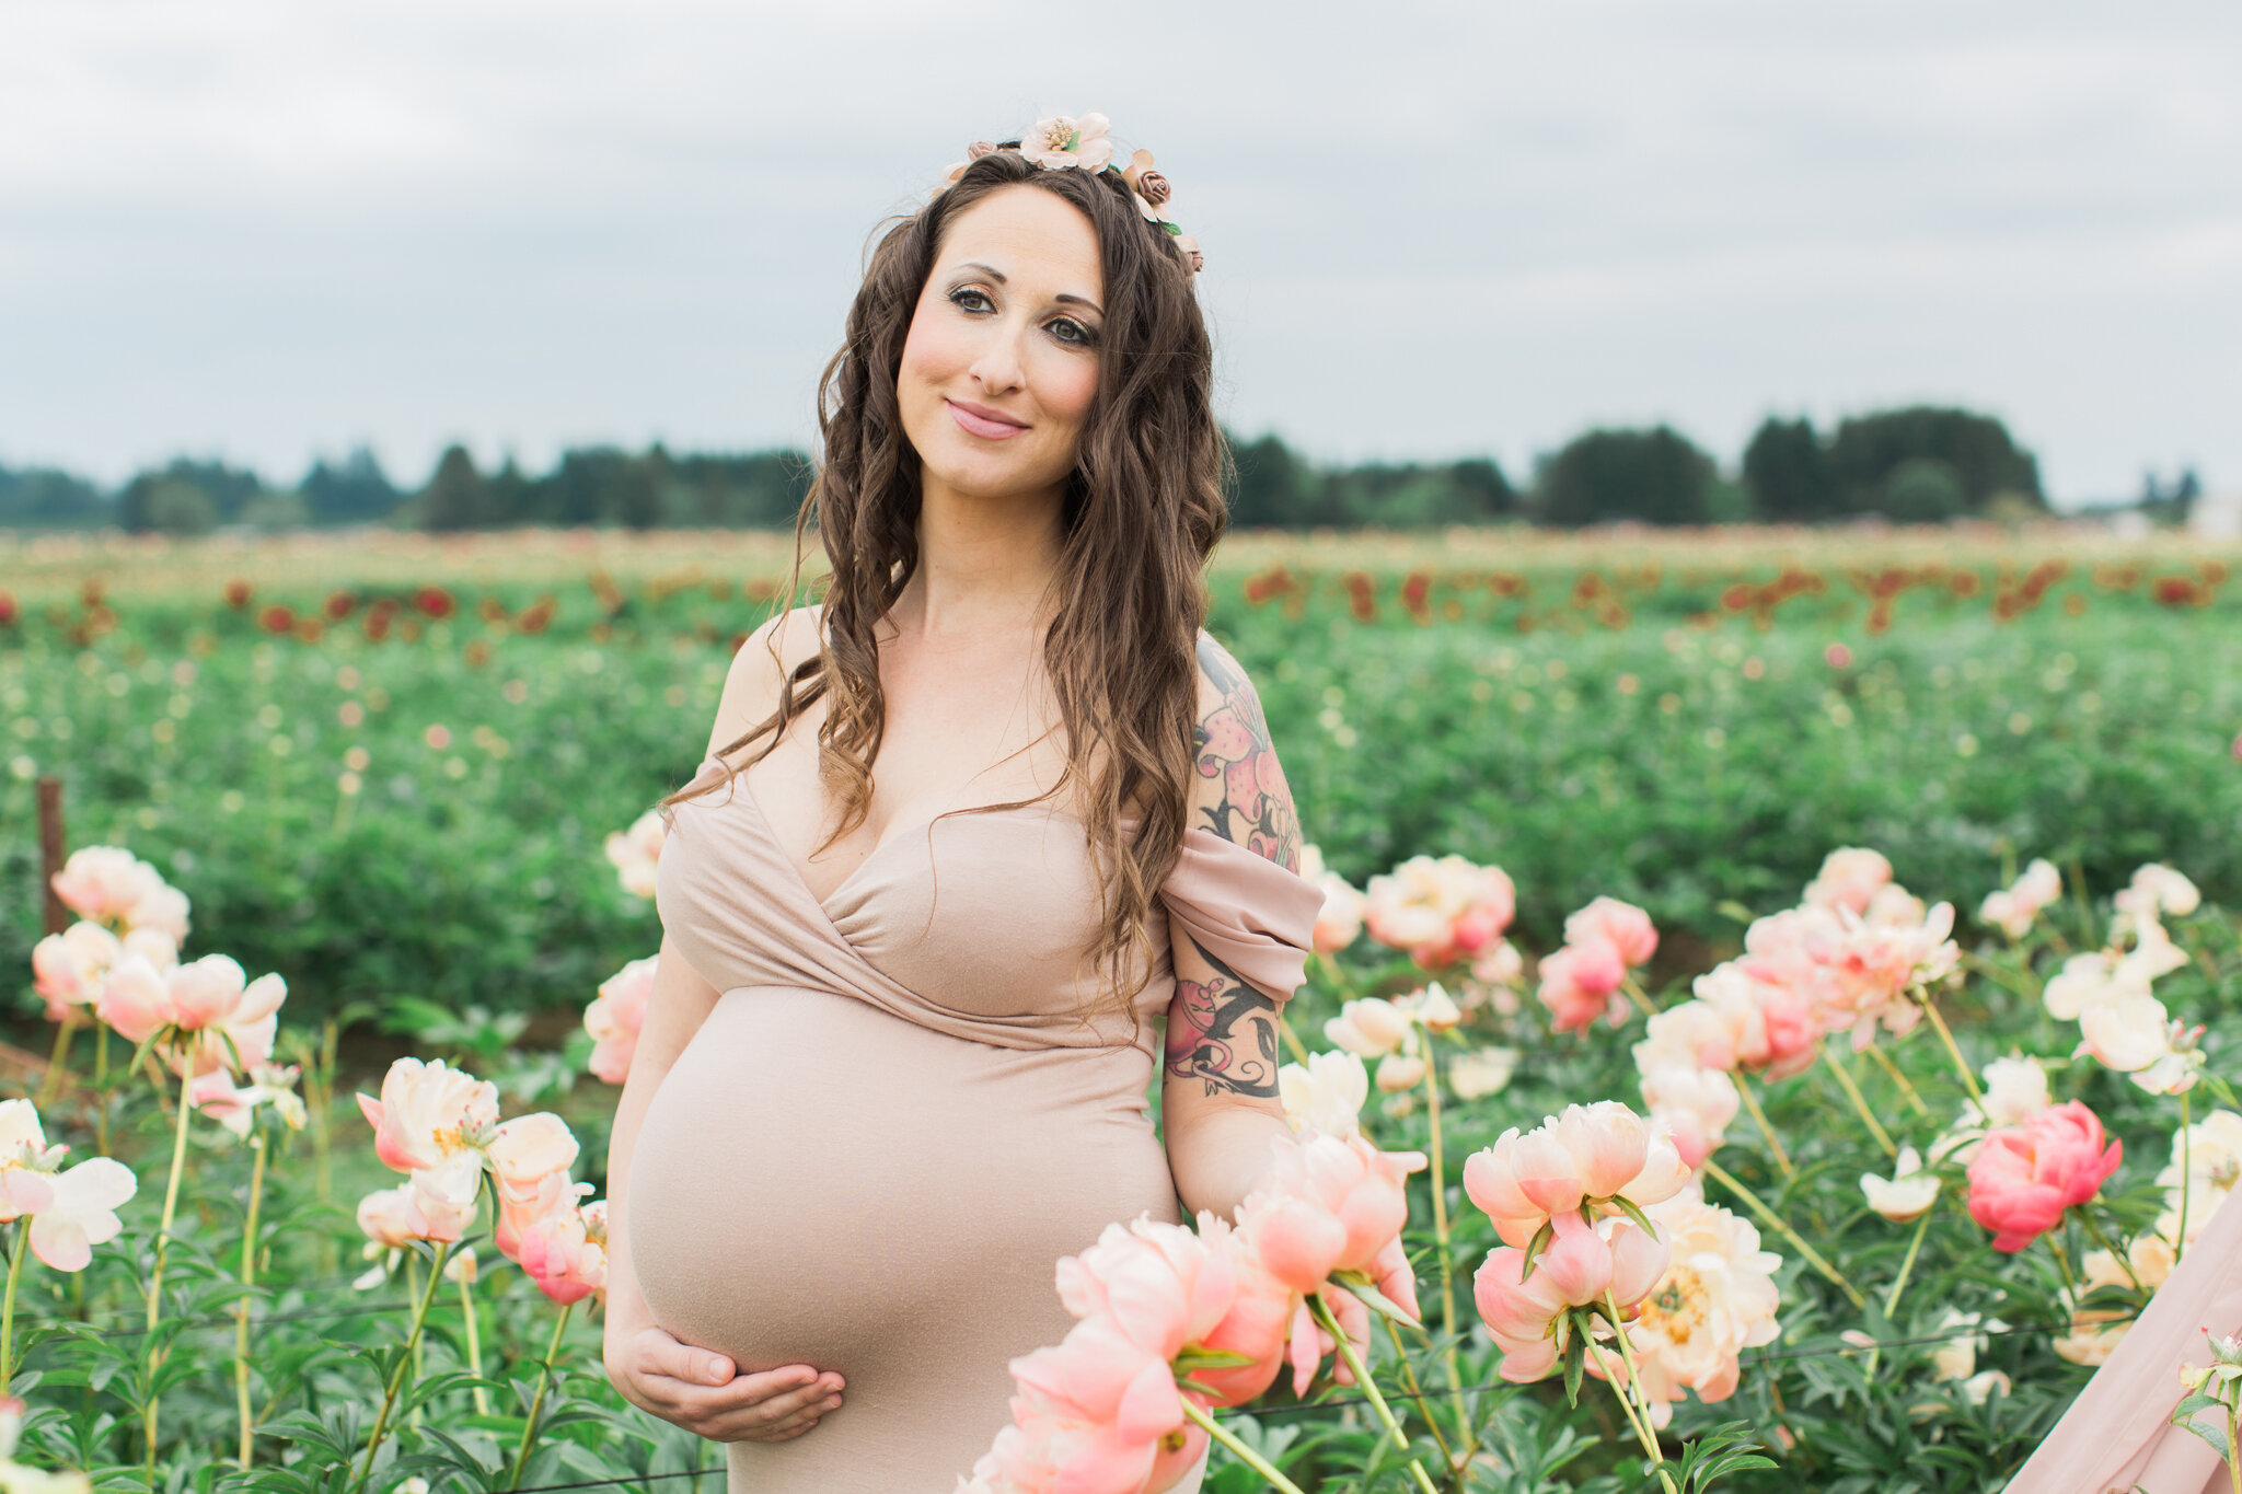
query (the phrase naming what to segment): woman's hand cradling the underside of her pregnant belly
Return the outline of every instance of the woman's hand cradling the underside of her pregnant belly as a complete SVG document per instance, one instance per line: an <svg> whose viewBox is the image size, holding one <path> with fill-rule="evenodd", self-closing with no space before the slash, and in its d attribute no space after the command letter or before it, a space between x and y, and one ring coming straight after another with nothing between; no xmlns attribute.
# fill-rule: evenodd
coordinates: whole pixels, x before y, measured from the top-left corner
<svg viewBox="0 0 2242 1494"><path fill-rule="evenodd" d="M841 1404L841 1375L785 1364L758 1375L661 1328L608 1344L608 1380L623 1400L711 1442L787 1442Z"/></svg>

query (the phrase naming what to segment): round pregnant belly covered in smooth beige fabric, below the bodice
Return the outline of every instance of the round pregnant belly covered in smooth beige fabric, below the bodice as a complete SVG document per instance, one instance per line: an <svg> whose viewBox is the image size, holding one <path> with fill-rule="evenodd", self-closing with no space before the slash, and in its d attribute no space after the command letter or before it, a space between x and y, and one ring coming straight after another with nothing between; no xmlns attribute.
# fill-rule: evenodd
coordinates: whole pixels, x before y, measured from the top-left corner
<svg viewBox="0 0 2242 1494"><path fill-rule="evenodd" d="M901 1366L1002 1375L1069 1324L1060 1254L1177 1216L1148 1075L1128 1048L991 1048L850 997L729 992L632 1154L646 1304L742 1369L841 1371L856 1404Z"/></svg>

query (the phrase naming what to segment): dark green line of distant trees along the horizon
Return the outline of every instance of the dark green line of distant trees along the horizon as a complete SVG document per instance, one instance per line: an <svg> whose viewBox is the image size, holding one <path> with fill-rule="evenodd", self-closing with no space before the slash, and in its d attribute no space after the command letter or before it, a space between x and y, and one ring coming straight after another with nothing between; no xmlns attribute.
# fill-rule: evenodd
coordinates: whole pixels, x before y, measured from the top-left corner
<svg viewBox="0 0 2242 1494"><path fill-rule="evenodd" d="M1670 426L1590 430L1534 461L1513 484L1491 457L1462 461L1318 464L1276 435L1231 437L1238 526L1316 529L1536 522L1563 529L1610 522L1740 524L2029 517L2047 511L2038 459L1991 414L1933 405L1845 417L1834 430L1769 417L1735 470ZM511 457L482 470L448 448L417 488L397 486L374 455L316 461L291 488L249 468L179 457L103 493L54 468L0 464L0 524L135 533L209 533L220 526L507 529L594 524L626 529L785 529L809 491L798 450L673 455L578 448L549 473ZM2179 488L2193 497L2193 475ZM2172 491L2146 479L2143 506L2164 515Z"/></svg>

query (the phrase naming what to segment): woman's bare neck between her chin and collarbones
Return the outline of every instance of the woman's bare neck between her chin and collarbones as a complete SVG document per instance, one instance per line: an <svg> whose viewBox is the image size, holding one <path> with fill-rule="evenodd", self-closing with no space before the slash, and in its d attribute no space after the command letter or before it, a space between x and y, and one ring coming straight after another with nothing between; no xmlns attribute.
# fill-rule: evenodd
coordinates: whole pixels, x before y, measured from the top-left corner
<svg viewBox="0 0 2242 1494"><path fill-rule="evenodd" d="M1060 493L964 497L926 484L919 567L890 618L928 643L986 641L1047 620L1060 555Z"/></svg>

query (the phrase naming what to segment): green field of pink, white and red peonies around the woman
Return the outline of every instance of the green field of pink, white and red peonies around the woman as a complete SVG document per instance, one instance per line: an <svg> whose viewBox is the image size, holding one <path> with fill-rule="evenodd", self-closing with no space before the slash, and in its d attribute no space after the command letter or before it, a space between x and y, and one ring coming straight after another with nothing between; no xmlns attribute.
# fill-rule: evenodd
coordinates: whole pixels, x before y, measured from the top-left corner
<svg viewBox="0 0 2242 1494"><path fill-rule="evenodd" d="M0 1490L724 1487L601 1369L605 1154L787 562L0 535ZM1294 1136L1051 1261L960 1494L2000 1490L2242 1183L2238 564L1229 538ZM2231 1451L2242 1344L2168 1393Z"/></svg>

